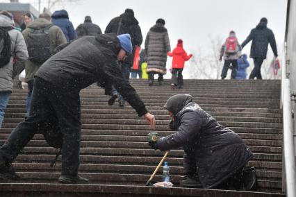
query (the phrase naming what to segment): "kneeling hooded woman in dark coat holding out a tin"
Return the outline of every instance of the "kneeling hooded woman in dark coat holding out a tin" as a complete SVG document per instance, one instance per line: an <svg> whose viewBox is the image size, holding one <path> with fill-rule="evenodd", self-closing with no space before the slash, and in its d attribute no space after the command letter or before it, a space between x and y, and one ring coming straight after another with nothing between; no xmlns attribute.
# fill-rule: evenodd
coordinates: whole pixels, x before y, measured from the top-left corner
<svg viewBox="0 0 296 197"><path fill-rule="evenodd" d="M164 108L172 117L170 128L177 131L149 145L161 151L183 146L186 176L181 187L229 189L234 182L233 187L239 189L242 168L252 158L252 152L240 136L217 123L189 94L171 96ZM256 178L252 181L247 185L256 184Z"/></svg>

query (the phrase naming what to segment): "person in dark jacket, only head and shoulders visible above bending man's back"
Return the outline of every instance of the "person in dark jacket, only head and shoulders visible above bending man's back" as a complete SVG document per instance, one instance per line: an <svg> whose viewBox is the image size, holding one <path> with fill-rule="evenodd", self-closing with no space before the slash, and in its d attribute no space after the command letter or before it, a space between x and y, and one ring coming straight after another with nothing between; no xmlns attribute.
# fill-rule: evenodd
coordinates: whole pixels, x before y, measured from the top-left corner
<svg viewBox="0 0 296 197"><path fill-rule="evenodd" d="M92 23L92 18L90 16L86 16L84 19L84 23L80 24L76 28L76 33L79 37L84 35L94 35L101 34L101 28L97 24Z"/></svg>

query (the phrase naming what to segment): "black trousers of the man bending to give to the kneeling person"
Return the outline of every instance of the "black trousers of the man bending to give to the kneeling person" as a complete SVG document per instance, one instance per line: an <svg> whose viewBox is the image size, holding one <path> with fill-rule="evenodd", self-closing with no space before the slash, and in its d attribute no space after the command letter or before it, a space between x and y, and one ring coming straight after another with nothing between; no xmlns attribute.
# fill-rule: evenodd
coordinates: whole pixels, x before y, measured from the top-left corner
<svg viewBox="0 0 296 197"><path fill-rule="evenodd" d="M0 156L13 162L19 151L36 133L42 133L44 123L56 119L63 134L62 174L76 176L79 169L81 142L81 106L79 90L52 85L42 78L35 78L31 99L31 112L19 123L0 149Z"/></svg>

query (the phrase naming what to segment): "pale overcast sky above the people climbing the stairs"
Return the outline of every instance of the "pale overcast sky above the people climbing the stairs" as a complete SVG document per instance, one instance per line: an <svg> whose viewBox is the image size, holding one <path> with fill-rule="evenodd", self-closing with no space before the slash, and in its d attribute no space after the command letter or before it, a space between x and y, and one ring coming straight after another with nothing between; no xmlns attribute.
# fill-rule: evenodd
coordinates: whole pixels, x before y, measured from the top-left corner
<svg viewBox="0 0 296 197"><path fill-rule="evenodd" d="M38 9L38 0L20 2L32 3ZM274 31L277 43L282 44L286 4L286 0L76 0L75 3L58 4L51 11L67 10L75 28L83 23L85 15L90 15L92 22L98 24L104 32L110 19L122 14L126 8L131 8L142 28L143 43L156 19L163 18L172 48L176 46L176 40L181 38L184 48L190 52L206 50L210 43L209 36L224 39L231 30L236 31L241 43L261 17L268 18L268 27ZM249 46L244 52L249 53L248 49Z"/></svg>

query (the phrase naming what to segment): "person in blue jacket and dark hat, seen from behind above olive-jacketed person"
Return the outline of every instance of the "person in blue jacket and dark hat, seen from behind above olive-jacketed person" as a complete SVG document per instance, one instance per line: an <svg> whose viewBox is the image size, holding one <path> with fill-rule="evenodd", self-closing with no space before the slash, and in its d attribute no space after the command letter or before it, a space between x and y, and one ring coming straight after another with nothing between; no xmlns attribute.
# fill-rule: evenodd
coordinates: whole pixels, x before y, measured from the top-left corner
<svg viewBox="0 0 296 197"><path fill-rule="evenodd" d="M72 22L69 21L69 15L66 10L56 10L56 12L51 15L51 22L62 29L67 38L67 42L77 37L77 33Z"/></svg>

